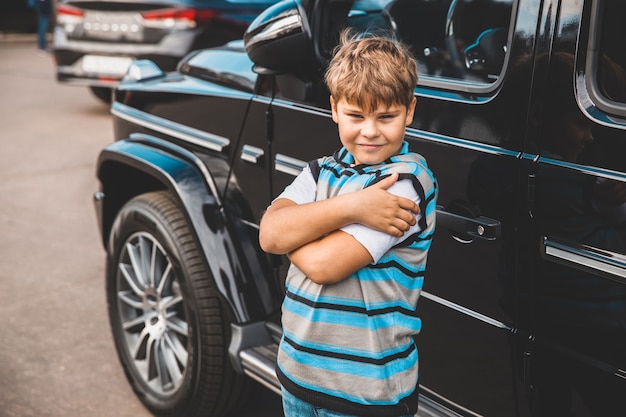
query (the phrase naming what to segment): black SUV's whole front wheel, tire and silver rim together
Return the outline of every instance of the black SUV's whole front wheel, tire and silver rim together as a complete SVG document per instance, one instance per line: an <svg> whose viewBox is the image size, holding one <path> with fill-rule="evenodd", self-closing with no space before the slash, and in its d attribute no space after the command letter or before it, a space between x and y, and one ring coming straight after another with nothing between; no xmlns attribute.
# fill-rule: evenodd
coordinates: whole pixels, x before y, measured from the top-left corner
<svg viewBox="0 0 626 417"><path fill-rule="evenodd" d="M224 416L245 403L246 377L228 359L230 315L170 194L143 194L120 210L106 287L118 356L152 413Z"/></svg>

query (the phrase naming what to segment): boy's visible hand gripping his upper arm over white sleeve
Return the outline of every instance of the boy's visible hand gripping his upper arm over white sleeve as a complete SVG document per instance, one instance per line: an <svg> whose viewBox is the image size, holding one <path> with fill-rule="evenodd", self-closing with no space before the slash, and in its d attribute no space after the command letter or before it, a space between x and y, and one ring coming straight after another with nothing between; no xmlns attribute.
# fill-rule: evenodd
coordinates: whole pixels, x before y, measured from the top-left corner
<svg viewBox="0 0 626 417"><path fill-rule="evenodd" d="M415 215L420 209L413 200L387 192L398 181L394 173L384 180L354 193L353 203L356 223L372 229L402 236L416 223Z"/></svg>

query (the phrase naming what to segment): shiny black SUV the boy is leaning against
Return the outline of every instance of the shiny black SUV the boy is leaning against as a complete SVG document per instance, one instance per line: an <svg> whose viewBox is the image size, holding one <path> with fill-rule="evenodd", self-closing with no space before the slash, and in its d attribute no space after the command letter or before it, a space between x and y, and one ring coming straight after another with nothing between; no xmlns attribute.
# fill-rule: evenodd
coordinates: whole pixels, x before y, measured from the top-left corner
<svg viewBox="0 0 626 417"><path fill-rule="evenodd" d="M344 27L419 61L406 139L440 186L418 303L421 415L626 412L621 0L286 0L176 73L115 91L96 206L122 365L155 414L233 411L274 373L287 263L264 209L339 147Z"/></svg>

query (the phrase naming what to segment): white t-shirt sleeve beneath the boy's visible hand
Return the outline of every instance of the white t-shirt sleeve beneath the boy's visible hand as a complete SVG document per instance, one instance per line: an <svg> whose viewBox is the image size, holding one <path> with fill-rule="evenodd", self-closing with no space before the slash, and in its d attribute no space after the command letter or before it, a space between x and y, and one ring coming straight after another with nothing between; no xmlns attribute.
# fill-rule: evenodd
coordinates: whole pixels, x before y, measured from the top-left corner
<svg viewBox="0 0 626 417"><path fill-rule="evenodd" d="M415 188L413 188L413 184L410 180L398 181L394 185L392 185L387 191L391 194L409 198L418 205L420 203L420 198L417 195ZM352 235L361 245L363 245L363 247L365 247L365 249L367 249L367 251L372 256L374 263L376 263L393 246L402 242L408 236L419 233L421 231L419 227L419 220L421 217L421 213L417 214L415 216L417 220L415 225L411 226L409 231L400 237L392 236L385 232L374 230L359 223L349 224L345 227L342 227L341 230Z"/></svg>

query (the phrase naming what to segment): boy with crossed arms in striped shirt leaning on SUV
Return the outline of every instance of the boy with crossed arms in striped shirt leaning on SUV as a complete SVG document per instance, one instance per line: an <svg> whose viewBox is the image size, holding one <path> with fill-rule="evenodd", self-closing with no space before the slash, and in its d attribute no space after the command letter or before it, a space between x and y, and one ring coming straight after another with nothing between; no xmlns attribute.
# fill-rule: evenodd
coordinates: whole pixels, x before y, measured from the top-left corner
<svg viewBox="0 0 626 417"><path fill-rule="evenodd" d="M416 62L381 37L350 38L326 73L343 147L267 209L263 250L291 261L276 372L286 416L417 412L415 314L437 188L408 150Z"/></svg>

